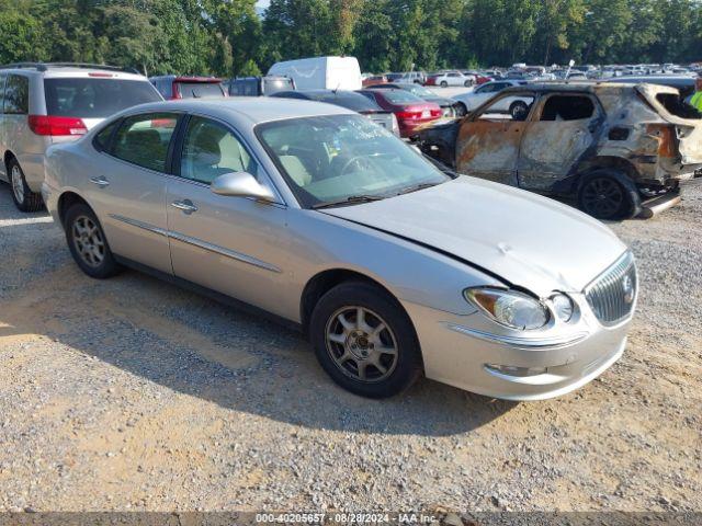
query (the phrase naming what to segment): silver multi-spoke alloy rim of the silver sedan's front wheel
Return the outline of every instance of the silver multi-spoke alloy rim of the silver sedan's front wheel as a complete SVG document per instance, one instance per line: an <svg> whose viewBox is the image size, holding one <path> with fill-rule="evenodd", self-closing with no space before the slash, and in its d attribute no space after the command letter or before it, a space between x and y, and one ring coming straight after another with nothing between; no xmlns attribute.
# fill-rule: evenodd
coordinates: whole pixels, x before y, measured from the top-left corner
<svg viewBox="0 0 702 526"><path fill-rule="evenodd" d="M389 324L365 307L337 310L327 322L327 352L350 378L378 382L397 366L397 339Z"/></svg>

